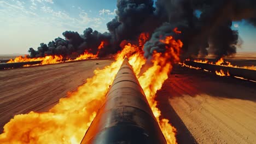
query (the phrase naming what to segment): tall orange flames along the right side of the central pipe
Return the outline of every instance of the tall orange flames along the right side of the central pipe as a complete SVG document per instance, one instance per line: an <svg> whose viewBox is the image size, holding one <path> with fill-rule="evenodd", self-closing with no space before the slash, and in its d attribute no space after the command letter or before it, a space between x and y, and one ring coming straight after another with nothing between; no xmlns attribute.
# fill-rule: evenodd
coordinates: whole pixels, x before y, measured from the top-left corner
<svg viewBox="0 0 256 144"><path fill-rule="evenodd" d="M138 80L147 96L149 105L152 108L167 143L177 143L175 138L176 129L168 123L168 119L160 119L161 111L156 107L157 101L155 101L155 94L161 89L162 84L168 78L168 74L172 69L172 63L179 62L179 53L183 44L180 40L176 41L171 36L160 40L160 42L166 44L166 52L154 52L152 59L153 66L139 76ZM133 65L133 63L131 64ZM135 67L133 66L133 68ZM135 73L137 73L137 71L135 71Z"/></svg>

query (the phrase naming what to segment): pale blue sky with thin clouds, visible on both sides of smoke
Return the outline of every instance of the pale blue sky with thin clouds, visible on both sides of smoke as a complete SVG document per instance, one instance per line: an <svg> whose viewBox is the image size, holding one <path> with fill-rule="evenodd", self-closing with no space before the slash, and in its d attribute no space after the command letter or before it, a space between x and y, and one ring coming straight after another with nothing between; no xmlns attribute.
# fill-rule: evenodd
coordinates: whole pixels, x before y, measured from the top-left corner
<svg viewBox="0 0 256 144"><path fill-rule="evenodd" d="M27 54L30 47L62 36L62 32L83 34L91 27L106 32L115 16L117 0L0 0L0 55ZM232 29L243 40L237 51L256 51L256 28L246 21L233 22Z"/></svg>

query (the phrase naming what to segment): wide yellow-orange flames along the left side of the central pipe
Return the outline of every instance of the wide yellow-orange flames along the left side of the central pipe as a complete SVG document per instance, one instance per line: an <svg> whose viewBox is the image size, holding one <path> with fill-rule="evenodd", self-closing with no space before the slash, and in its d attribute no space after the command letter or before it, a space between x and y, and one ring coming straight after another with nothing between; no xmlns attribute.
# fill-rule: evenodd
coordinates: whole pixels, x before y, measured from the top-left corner
<svg viewBox="0 0 256 144"><path fill-rule="evenodd" d="M120 52L111 65L95 70L93 77L87 79L77 91L60 99L49 112L14 116L4 125L0 143L80 143L102 105L128 48Z"/></svg>

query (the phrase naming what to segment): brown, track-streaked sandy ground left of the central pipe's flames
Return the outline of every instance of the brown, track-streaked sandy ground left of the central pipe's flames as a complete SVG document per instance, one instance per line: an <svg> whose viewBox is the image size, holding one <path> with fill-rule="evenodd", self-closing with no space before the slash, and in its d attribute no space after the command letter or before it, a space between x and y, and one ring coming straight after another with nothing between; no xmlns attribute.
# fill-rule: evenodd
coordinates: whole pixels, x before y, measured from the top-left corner
<svg viewBox="0 0 256 144"><path fill-rule="evenodd" d="M1 70L0 133L14 115L48 111L67 92L83 85L96 68L111 62L84 61Z"/></svg>

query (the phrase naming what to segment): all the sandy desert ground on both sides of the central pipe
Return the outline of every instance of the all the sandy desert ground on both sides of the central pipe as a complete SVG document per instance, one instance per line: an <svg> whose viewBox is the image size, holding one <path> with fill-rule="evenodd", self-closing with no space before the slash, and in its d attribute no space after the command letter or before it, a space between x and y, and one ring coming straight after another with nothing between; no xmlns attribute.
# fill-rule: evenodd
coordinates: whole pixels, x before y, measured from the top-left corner
<svg viewBox="0 0 256 144"><path fill-rule="evenodd" d="M1 132L14 115L48 111L67 92L83 85L96 68L111 62L82 61L1 70ZM249 64L252 63L256 65L250 59ZM176 127L178 143L256 143L255 82L176 65L156 100L162 116Z"/></svg>

